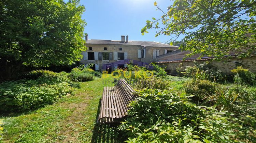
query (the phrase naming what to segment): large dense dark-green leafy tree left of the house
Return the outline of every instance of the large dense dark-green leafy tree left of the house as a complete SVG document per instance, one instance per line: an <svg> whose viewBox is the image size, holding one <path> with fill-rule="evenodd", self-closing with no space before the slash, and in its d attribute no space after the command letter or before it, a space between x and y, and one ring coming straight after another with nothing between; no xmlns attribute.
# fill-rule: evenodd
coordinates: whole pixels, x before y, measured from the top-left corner
<svg viewBox="0 0 256 143"><path fill-rule="evenodd" d="M85 11L79 0L2 0L0 74L16 76L22 67L69 65L86 50Z"/></svg>

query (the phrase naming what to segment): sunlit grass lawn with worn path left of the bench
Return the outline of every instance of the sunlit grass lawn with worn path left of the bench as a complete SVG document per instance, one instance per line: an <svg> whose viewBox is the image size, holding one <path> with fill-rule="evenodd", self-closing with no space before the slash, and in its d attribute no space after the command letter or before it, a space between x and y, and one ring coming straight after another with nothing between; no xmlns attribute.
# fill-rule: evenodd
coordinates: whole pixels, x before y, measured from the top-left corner
<svg viewBox="0 0 256 143"><path fill-rule="evenodd" d="M96 124L103 87L110 86L103 85L102 80L83 82L74 96L62 98L53 105L1 117L4 121L2 142L120 141L116 127Z"/></svg>

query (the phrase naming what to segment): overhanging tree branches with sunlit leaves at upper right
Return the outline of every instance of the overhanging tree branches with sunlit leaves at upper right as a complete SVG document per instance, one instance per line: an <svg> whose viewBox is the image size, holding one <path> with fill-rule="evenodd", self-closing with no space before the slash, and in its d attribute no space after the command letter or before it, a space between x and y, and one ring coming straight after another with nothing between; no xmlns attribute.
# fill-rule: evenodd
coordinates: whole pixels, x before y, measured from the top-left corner
<svg viewBox="0 0 256 143"><path fill-rule="evenodd" d="M221 59L225 55L239 54L247 57L256 49L256 1L255 0L175 0L167 12L154 5L163 15L147 20L141 33L155 29L156 35L179 36L186 43L182 50ZM159 25L159 22L162 25ZM168 41L168 42L169 42Z"/></svg>

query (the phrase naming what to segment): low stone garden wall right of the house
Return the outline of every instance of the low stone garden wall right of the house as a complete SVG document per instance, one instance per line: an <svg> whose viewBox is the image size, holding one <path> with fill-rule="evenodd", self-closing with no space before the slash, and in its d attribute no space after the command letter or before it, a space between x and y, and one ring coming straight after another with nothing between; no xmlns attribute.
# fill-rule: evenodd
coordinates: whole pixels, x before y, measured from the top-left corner
<svg viewBox="0 0 256 143"><path fill-rule="evenodd" d="M220 69L225 74L231 74L230 70L236 68L237 66L242 66L243 68L249 69L250 71L256 73L256 56L248 57L248 58L233 58L226 59L223 61L212 61L212 60L197 60L197 62L203 63L206 61L210 61L211 65L215 69ZM182 63L182 64L181 64ZM176 61L176 62L168 62L168 63L158 63L164 67L166 67L168 74L177 75L176 68L181 67L185 69L186 66L194 66L194 61Z"/></svg>

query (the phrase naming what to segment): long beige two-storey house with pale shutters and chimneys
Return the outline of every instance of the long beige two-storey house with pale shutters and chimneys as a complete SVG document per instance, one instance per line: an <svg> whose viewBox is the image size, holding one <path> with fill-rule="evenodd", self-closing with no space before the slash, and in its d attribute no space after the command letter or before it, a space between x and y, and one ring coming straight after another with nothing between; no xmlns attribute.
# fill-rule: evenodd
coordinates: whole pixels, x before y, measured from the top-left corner
<svg viewBox="0 0 256 143"><path fill-rule="evenodd" d="M83 51L82 64L93 64L95 70L113 71L124 68L131 60L139 66L155 62L156 57L177 50L179 47L149 41L129 41L128 35L120 41L88 39Z"/></svg>

